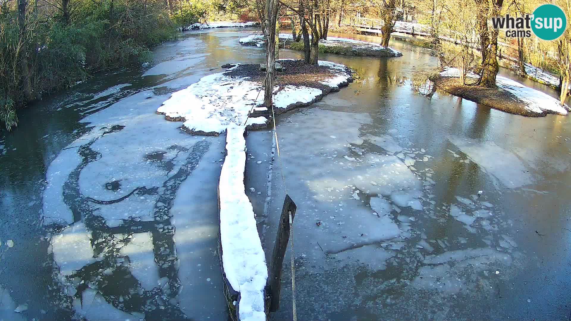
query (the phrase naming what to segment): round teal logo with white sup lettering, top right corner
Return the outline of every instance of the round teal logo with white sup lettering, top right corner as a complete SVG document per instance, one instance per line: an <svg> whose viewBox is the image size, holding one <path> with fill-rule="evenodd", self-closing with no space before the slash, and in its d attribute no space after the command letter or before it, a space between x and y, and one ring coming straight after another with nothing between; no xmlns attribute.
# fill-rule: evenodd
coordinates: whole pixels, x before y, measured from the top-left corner
<svg viewBox="0 0 571 321"><path fill-rule="evenodd" d="M557 39L563 34L566 27L565 13L556 5L538 6L533 11L532 30L540 39Z"/></svg>

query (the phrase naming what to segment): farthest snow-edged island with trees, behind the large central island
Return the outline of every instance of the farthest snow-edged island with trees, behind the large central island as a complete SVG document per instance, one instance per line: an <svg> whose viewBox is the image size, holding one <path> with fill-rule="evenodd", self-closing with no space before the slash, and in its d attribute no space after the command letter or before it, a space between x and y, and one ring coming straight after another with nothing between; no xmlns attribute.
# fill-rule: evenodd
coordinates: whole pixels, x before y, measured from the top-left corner
<svg viewBox="0 0 571 321"><path fill-rule="evenodd" d="M264 37L261 34L252 34L248 37L240 38L240 45L263 46L263 38ZM293 35L280 34L279 38L280 43L285 43L286 48L303 51L303 41L293 41ZM383 47L378 43L337 37L327 37L327 40L320 40L319 51L326 54L344 54L379 58L400 57L403 55L391 47Z"/></svg>

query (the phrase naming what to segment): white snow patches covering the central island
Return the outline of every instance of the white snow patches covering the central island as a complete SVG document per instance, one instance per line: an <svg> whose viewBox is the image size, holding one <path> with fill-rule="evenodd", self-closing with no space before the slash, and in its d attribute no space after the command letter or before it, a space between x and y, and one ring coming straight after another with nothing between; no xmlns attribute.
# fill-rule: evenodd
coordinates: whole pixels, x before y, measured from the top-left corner
<svg viewBox="0 0 571 321"><path fill-rule="evenodd" d="M352 79L351 73L343 65L327 61L320 61L319 65L329 67L334 72L331 78L320 81L332 90L338 90ZM251 81L250 77L230 75L240 66L236 65L224 73L208 75L188 88L176 91L163 102L157 113L164 114L167 119L184 121L183 130L193 134L218 135L230 125L266 127L270 122L268 118L248 118L252 108L263 102L263 86ZM297 85L275 86L274 91L275 105L282 110L307 105L323 95L321 89Z"/></svg>

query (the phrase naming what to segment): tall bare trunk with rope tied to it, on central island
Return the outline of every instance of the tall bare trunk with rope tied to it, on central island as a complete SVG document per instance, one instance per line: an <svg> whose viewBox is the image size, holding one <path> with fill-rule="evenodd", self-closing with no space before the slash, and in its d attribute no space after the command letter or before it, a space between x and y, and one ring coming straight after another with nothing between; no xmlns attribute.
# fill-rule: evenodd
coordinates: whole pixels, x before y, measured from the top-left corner
<svg viewBox="0 0 571 321"><path fill-rule="evenodd" d="M264 89L264 106L272 106L272 94L275 82L275 50L276 50L276 22L278 21L278 0L266 2L266 81Z"/></svg>

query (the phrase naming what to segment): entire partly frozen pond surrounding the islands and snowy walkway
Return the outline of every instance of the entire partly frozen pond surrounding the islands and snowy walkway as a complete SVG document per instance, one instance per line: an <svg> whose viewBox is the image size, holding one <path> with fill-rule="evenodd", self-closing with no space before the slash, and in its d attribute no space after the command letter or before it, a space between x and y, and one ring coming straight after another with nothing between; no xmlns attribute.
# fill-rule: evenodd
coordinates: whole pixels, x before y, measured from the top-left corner
<svg viewBox="0 0 571 321"><path fill-rule="evenodd" d="M39 103L0 137L0 319L227 318L216 252L224 137L188 135L155 111L224 63L262 62L262 49L238 43L250 32L188 31L150 66ZM271 131L247 137L266 255L286 192L297 204L298 318L567 319L569 118L425 97L411 81L436 59L391 46L403 57L320 57L358 79L278 117L285 186ZM291 319L284 262L275 320Z"/></svg>

